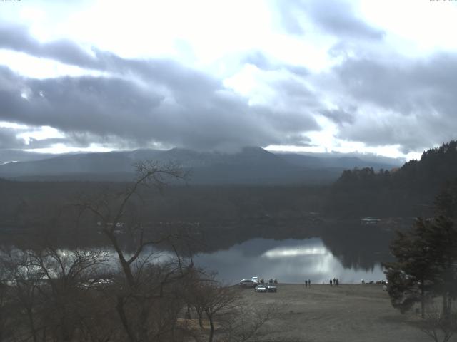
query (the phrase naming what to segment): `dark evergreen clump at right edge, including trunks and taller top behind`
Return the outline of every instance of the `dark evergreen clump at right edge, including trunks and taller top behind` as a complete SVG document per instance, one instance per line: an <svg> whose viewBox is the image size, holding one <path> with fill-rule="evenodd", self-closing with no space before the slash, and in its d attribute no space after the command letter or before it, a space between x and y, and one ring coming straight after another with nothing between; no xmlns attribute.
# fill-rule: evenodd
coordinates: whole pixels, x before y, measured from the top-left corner
<svg viewBox="0 0 457 342"><path fill-rule="evenodd" d="M416 219L391 244L396 262L386 263L388 294L402 313L421 305L421 330L435 341L448 341L457 329L457 227L446 191L437 197L436 217ZM446 216L446 214L448 216ZM439 304L438 304L439 302ZM439 309L438 309L439 308Z"/></svg>

